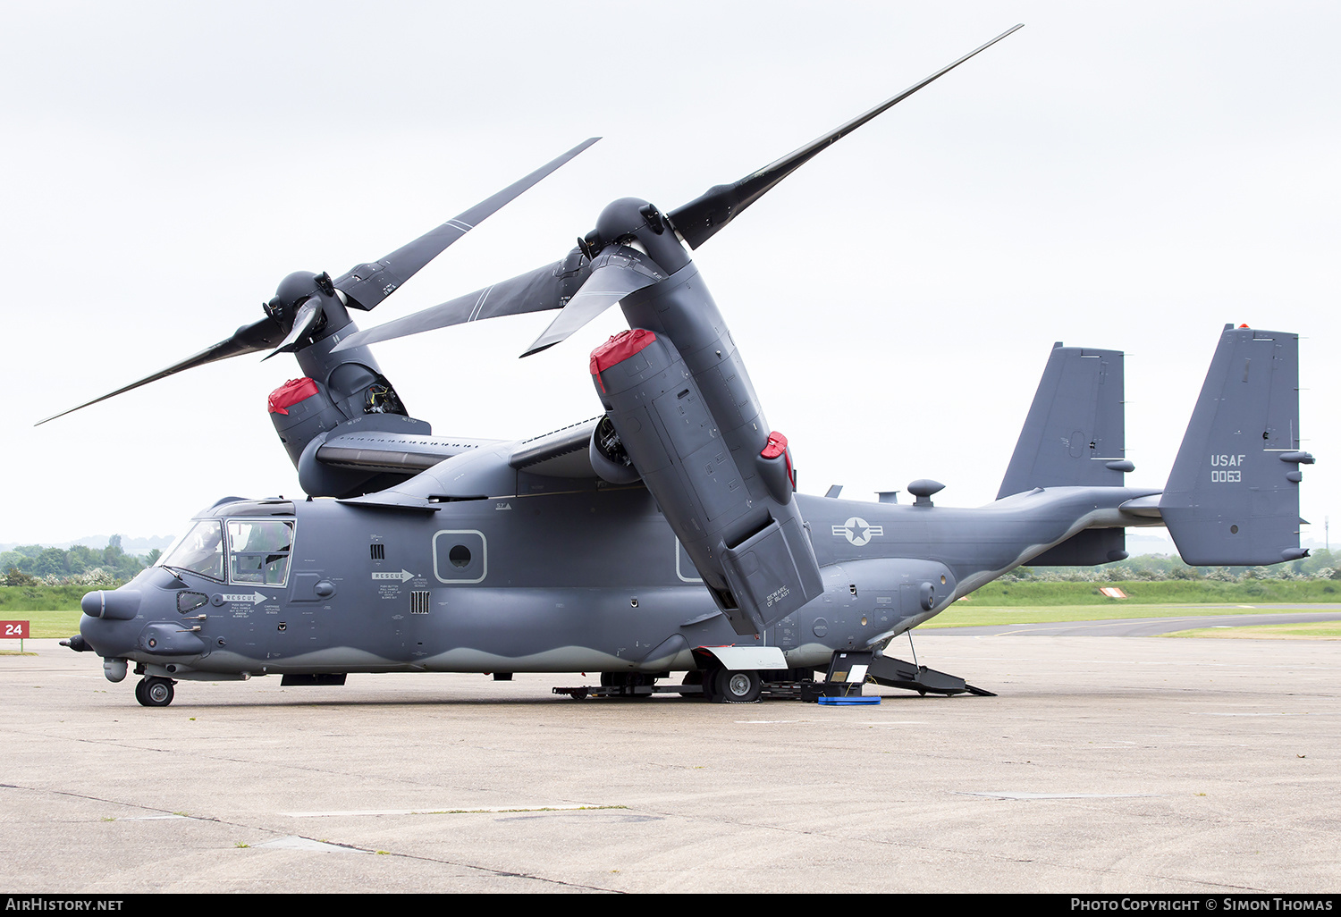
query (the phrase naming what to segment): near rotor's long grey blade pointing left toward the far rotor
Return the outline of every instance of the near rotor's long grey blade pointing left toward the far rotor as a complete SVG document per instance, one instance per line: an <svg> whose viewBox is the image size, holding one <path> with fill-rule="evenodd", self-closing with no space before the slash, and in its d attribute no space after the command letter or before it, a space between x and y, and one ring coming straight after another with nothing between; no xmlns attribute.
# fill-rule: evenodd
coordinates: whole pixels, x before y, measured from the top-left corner
<svg viewBox="0 0 1341 917"><path fill-rule="evenodd" d="M561 308L582 287L582 282L587 279L589 273L587 260L581 251L574 248L562 261L546 264L542 268L495 283L492 287L484 287L484 290L476 290L472 294L430 306L394 322L378 324L375 328L355 331L335 345L331 353L362 347L378 341L405 338L452 324L464 324L465 322Z"/></svg>

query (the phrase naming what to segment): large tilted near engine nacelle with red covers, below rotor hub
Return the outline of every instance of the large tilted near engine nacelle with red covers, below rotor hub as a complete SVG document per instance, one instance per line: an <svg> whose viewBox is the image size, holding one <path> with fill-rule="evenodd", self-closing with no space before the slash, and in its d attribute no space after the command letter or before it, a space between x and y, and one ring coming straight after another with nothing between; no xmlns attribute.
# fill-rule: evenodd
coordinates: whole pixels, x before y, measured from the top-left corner
<svg viewBox="0 0 1341 917"><path fill-rule="evenodd" d="M786 438L693 265L622 306L636 327L591 354L601 402L717 607L760 633L823 593Z"/></svg>

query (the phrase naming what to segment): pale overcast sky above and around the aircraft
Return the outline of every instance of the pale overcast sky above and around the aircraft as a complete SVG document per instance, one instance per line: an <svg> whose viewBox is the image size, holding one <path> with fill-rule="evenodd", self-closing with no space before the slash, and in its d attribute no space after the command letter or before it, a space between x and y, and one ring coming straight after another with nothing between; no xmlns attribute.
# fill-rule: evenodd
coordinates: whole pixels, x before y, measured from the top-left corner
<svg viewBox="0 0 1341 917"><path fill-rule="evenodd" d="M299 495L259 355L44 426L381 257L585 137L369 327L561 257L611 198L734 181L1016 21L695 252L801 489L1000 483L1054 341L1126 358L1133 485L1163 485L1226 322L1302 335L1302 511L1341 524L1336 3L0 5L0 542L180 534ZM598 413L610 310L374 347L436 433Z"/></svg>

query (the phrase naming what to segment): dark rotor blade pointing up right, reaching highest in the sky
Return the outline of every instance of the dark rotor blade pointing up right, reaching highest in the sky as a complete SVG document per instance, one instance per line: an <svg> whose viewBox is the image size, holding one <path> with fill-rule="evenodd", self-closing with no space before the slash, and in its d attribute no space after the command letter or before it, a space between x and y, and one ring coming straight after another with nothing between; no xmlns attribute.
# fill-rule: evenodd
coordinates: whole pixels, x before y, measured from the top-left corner
<svg viewBox="0 0 1341 917"><path fill-rule="evenodd" d="M940 76L944 76L951 70L964 63L979 51L990 48L991 46L1000 42L1003 38L1014 32L1016 28L1022 27L1023 23L1015 25L1014 28L1006 29L987 44L982 46L980 48L976 48L975 51L970 51L955 63L941 67L940 70L937 70L935 74L921 80L920 83L909 86L898 95L881 102L870 111L853 118L848 123L831 130L823 137L815 138L810 143L806 143L801 149L782 157L776 162L764 166L759 172L750 173L748 176L735 182L734 185L715 185L709 188L701 197L697 197L685 204L684 206L680 206L668 213L666 216L670 220L670 225L673 225L676 231L681 236L684 236L684 240L689 243L689 248L697 248L704 241L711 239L719 229L721 229L721 227L727 225L734 219L736 219L742 210L744 210L747 206L750 206L756 200L763 197L768 192L768 189L771 189L774 185L776 185L779 181L790 176L793 172L799 169L805 162L807 162L811 157L819 153L819 150L825 149L830 143L842 139L843 137L857 130L858 127L861 127L864 123L866 123L880 113L897 105L898 102L902 102L921 87L939 79Z"/></svg>

